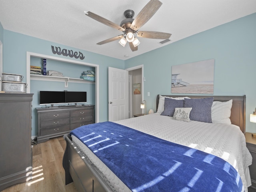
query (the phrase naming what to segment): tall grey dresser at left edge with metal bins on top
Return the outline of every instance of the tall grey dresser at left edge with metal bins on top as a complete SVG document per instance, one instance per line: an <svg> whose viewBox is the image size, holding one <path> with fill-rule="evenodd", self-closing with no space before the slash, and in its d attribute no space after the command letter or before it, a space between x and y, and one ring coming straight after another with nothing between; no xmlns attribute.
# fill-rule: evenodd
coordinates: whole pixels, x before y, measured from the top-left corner
<svg viewBox="0 0 256 192"><path fill-rule="evenodd" d="M0 191L31 179L32 96L0 93Z"/></svg>

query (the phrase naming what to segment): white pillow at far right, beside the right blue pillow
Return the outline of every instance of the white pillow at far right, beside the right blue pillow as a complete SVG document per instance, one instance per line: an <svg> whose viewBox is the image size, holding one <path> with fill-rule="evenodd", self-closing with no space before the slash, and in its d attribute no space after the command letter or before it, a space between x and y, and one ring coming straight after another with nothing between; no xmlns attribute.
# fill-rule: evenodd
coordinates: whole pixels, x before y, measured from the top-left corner
<svg viewBox="0 0 256 192"><path fill-rule="evenodd" d="M231 124L230 114L233 100L226 102L214 101L212 103L212 122Z"/></svg>

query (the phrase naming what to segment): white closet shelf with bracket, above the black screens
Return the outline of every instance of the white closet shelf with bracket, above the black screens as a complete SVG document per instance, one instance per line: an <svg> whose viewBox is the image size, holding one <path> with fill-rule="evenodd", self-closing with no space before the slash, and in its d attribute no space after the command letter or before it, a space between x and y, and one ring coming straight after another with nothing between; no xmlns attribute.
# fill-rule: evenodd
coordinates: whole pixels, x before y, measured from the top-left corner
<svg viewBox="0 0 256 192"><path fill-rule="evenodd" d="M93 82L93 81L87 81L87 80L80 79L80 78L58 77L58 76L47 76L47 75L35 75L35 74L30 74L30 80L64 82L65 83L65 87L68 87L68 82L95 84L95 82Z"/></svg>

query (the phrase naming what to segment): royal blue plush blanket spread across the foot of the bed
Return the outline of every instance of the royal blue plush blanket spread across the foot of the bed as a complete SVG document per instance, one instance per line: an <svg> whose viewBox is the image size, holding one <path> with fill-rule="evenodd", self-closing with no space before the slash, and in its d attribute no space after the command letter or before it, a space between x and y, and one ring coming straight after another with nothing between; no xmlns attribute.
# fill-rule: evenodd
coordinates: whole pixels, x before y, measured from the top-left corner
<svg viewBox="0 0 256 192"><path fill-rule="evenodd" d="M238 172L212 154L102 122L81 126L79 138L133 192L241 192Z"/></svg>

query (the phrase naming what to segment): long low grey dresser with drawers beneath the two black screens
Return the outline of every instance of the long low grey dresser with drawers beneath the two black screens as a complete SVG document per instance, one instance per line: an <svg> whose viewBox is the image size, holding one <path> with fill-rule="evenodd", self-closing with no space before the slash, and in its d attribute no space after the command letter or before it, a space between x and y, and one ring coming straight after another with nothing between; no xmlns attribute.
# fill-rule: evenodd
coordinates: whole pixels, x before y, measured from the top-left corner
<svg viewBox="0 0 256 192"><path fill-rule="evenodd" d="M38 114L37 142L62 136L82 125L94 123L94 105L67 105L36 108Z"/></svg>

